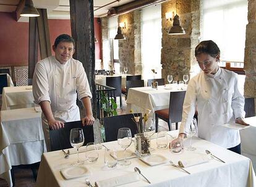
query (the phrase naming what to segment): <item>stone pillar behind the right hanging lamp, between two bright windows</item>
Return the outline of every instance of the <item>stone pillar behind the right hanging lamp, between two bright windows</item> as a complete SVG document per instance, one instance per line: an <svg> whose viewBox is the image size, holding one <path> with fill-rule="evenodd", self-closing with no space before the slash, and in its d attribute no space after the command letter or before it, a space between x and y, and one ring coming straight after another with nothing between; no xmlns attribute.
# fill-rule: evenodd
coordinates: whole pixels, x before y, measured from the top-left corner
<svg viewBox="0 0 256 187"><path fill-rule="evenodd" d="M168 34L173 21L166 20L166 12L176 15L176 1L162 4L162 78L166 80L167 75L172 74L173 79L179 81L184 74L190 73L190 68L194 65L194 48L199 42L200 34L200 0L177 1L177 15L186 34Z"/></svg>

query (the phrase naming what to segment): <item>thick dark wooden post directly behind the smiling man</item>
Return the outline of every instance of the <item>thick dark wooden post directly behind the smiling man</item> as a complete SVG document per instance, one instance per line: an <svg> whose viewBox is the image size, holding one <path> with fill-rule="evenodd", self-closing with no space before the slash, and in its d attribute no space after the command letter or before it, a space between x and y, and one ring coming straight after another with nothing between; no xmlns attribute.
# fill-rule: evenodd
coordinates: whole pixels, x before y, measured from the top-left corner
<svg viewBox="0 0 256 187"><path fill-rule="evenodd" d="M83 63L92 91L93 116L96 118L95 43L93 0L69 0L72 37L75 39L74 58ZM83 106L79 106L83 111ZM83 114L82 114L83 115Z"/></svg>

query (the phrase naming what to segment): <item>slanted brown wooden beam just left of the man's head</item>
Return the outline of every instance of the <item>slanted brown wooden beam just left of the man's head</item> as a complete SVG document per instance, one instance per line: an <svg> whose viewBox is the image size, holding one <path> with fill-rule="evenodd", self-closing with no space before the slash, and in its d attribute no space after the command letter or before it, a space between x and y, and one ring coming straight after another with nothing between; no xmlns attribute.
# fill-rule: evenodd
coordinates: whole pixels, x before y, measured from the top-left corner
<svg viewBox="0 0 256 187"><path fill-rule="evenodd" d="M36 17L41 59L51 56L51 41L46 9L37 9L40 17Z"/></svg>

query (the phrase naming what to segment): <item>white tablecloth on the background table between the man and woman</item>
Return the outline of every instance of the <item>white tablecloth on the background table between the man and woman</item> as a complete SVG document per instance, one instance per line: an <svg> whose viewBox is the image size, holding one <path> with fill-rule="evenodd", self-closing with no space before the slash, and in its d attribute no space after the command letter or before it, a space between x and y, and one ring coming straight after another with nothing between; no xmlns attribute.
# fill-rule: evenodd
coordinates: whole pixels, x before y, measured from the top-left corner
<svg viewBox="0 0 256 187"><path fill-rule="evenodd" d="M186 87L185 87L186 88ZM130 88L127 96L127 111L130 109L134 113L145 113L147 109L151 110L150 115L158 109L169 108L170 92L185 91L173 87L166 89L164 86L158 86L158 89L151 87Z"/></svg>

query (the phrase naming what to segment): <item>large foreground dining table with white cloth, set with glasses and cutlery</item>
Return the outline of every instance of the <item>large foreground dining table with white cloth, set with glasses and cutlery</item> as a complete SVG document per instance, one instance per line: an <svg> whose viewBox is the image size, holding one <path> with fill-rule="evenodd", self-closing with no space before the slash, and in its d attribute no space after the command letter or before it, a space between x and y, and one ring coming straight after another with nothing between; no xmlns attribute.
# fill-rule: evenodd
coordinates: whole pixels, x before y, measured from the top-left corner
<svg viewBox="0 0 256 187"><path fill-rule="evenodd" d="M169 140L177 137L177 133L177 130L168 132ZM184 145L187 146L189 140L185 141ZM119 181L133 181L132 183L122 185L122 187L256 186L255 173L249 158L197 137L192 138L192 145L196 148L195 151L187 151L185 148L182 149L180 153L173 153L168 148L156 148L156 139L153 138L151 140L151 146L155 148L155 150L151 151L150 156L130 157L130 165L122 166L117 164L116 167L111 168L105 166L104 155L106 149L116 148L119 151L123 151L124 149L119 147L117 141L109 141L103 143L103 145L104 146L101 146L101 149L98 149L98 161L89 163L86 160L86 152L79 153L80 160L84 162L82 162L81 165L76 166L72 165L77 159L76 154L69 154L68 158L64 158L65 154L61 150L44 153L38 170L36 186L87 186L85 184L86 179L87 183L90 181L92 186L95 186L95 181L98 184L101 183L101 186L111 186L108 181L113 180L113 178L119 178L117 179ZM134 149L134 143L127 148L130 152L134 152ZM221 158L225 163L208 155L207 161L184 168L190 173L188 174L184 172L184 170L174 167L169 162L172 161L174 164L177 164L178 161L186 162L191 159L197 159L198 157L205 157L207 156L205 150L211 151L212 154ZM150 161L150 157L155 157L156 160ZM135 167L140 169L140 172L150 181L150 183L138 173L134 174ZM82 170L82 173L79 173L79 170L81 169L84 170ZM66 179L64 176L66 176L67 173L64 175L64 171L69 171L69 176L72 177ZM137 180L132 180L133 178L131 176L136 178L139 177ZM103 182L104 180L105 182ZM114 183L112 186L118 186L118 183Z"/></svg>

